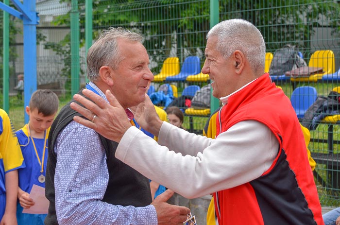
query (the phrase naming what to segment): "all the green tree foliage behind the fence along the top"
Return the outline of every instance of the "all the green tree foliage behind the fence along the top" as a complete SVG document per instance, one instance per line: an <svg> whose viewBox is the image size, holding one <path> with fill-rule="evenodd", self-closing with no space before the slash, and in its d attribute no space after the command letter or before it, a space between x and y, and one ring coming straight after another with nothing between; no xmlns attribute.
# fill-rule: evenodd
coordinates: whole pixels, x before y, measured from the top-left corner
<svg viewBox="0 0 340 225"><path fill-rule="evenodd" d="M85 0L79 0L78 4L80 27L84 28ZM150 58L157 65L154 71L159 71L163 60L169 56L176 55L181 61L188 55L204 57L210 21L209 0L94 0L92 7L93 38L110 26L142 33ZM220 0L220 20L229 18L243 18L255 24L269 50L285 44L309 50L313 28L318 26L340 32L340 5L334 0ZM69 26L69 15L59 16L53 23ZM81 29L81 47L85 43L84 32ZM68 57L69 37L66 38L49 46Z"/></svg>

